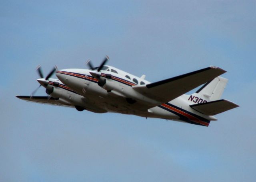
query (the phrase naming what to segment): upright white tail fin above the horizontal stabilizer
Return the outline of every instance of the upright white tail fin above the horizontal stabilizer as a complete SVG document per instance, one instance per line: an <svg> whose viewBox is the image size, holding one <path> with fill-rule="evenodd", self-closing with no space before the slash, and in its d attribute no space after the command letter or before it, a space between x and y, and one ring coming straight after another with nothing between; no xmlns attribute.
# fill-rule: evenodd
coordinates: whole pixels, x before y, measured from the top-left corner
<svg viewBox="0 0 256 182"><path fill-rule="evenodd" d="M203 98L207 102L219 100L222 96L222 93L224 91L224 88L226 87L227 82L228 79L218 76L204 84L193 95L198 96L199 98Z"/></svg>

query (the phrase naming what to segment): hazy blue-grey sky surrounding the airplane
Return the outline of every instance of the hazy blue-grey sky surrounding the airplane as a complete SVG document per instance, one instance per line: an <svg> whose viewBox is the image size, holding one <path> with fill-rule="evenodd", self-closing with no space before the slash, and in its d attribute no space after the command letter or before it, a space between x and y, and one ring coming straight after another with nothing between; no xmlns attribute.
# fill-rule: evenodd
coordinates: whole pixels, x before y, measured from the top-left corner
<svg viewBox="0 0 256 182"><path fill-rule="evenodd" d="M105 55L151 82L221 67L240 107L202 127L15 98L39 85L39 64L46 75ZM0 69L1 182L256 180L255 0L2 0Z"/></svg>

